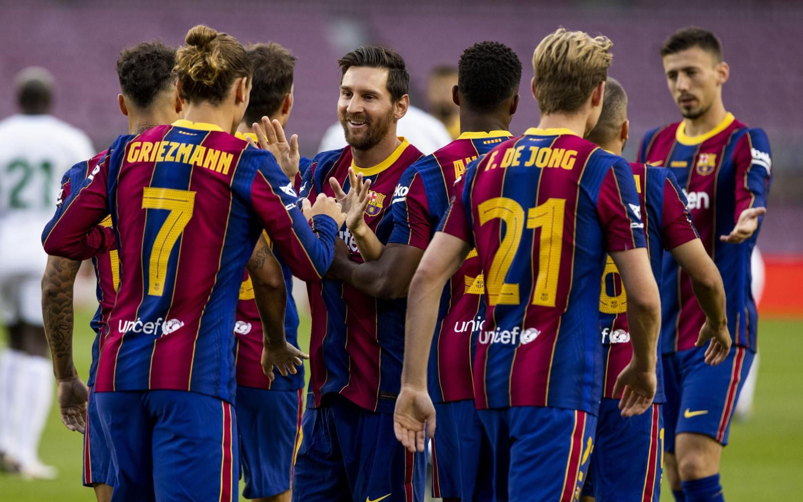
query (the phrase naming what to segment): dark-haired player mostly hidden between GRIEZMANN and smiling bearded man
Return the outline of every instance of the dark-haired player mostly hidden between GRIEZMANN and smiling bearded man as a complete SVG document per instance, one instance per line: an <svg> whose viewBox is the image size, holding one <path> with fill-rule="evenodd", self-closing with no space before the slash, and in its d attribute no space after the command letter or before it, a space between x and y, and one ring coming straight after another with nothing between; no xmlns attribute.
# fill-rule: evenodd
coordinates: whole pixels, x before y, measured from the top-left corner
<svg viewBox="0 0 803 502"><path fill-rule="evenodd" d="M293 107L293 69L296 57L278 43L259 43L247 47L248 59L254 67L254 84L238 137L252 137L251 126L262 123L266 133L274 134L273 120L279 129L287 126ZM282 131L283 133L283 131ZM277 141L274 141L276 143ZM298 141L291 139L298 154ZM266 149L269 146L266 145ZM302 158L302 161L304 159ZM311 161L306 159L308 167ZM299 165L296 172L285 172L300 186ZM287 306L284 312L284 333L287 341L298 347L299 316L293 300L293 278L287 262L273 254L281 263L284 285L287 288ZM289 502L293 456L300 434L304 366L296 374L277 376L272 382L263 373L262 322L254 300L251 278L246 274L240 286L237 304L237 323L234 325L234 362L237 370L237 426L240 433L241 465L245 488L243 496L251 500ZM274 426L266 427L266 423Z"/></svg>

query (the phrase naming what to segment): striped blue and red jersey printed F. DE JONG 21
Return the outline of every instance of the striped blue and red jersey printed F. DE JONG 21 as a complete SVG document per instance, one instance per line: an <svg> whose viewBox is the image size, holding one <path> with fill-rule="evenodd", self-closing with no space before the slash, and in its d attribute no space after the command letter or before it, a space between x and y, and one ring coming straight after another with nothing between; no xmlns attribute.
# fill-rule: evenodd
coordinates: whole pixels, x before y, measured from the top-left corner
<svg viewBox="0 0 803 502"><path fill-rule="evenodd" d="M458 189L443 231L476 248L485 277L477 408L597 414L605 253L646 246L630 164L569 129L528 129L469 166Z"/></svg>

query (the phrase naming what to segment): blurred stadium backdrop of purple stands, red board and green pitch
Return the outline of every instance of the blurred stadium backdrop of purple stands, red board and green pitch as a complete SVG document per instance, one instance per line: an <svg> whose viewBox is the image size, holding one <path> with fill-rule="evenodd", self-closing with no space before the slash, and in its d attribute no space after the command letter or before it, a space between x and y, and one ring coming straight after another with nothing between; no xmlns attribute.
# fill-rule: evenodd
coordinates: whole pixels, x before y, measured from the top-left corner
<svg viewBox="0 0 803 502"><path fill-rule="evenodd" d="M756 409L750 422L733 426L723 484L729 501L803 496L803 373L797 362L803 355L803 62L793 36L803 24L803 2L27 0L0 1L0 12L0 117L15 111L16 73L30 65L47 67L56 79L55 116L84 129L96 149L103 149L125 129L116 108L120 50L157 38L179 45L187 29L203 22L243 43L282 43L298 57L288 130L299 134L308 156L336 121L336 59L353 47L370 42L399 51L410 68L411 101L426 109L426 79L433 67L456 64L463 49L480 40L506 43L524 64L522 100L511 126L516 134L536 124L538 116L529 94L532 50L544 35L564 26L613 40L610 75L630 96L631 141L625 154L632 159L646 129L679 116L662 75L662 40L690 24L714 31L731 66L725 104L740 120L766 130L775 176L759 238L767 280L760 306ZM75 319L75 360L85 378L94 309L91 280L85 278L78 288L83 307ZM302 344L307 338L303 319ZM0 475L0 501L94 500L80 487L80 436L63 428L57 411L54 406L40 456L59 467L59 479L26 482ZM662 500L671 500L668 489Z"/></svg>

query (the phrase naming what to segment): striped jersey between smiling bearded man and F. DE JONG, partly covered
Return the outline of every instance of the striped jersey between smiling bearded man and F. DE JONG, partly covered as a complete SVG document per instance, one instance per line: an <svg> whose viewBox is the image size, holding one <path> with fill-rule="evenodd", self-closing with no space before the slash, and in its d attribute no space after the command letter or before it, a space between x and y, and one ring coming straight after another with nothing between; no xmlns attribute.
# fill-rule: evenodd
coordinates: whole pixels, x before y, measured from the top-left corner
<svg viewBox="0 0 803 502"><path fill-rule="evenodd" d="M388 242L426 249L449 209L454 182L471 161L510 137L507 131L463 133L411 165L393 194ZM485 318L484 292L483 271L472 250L443 288L427 375L433 402L474 398L471 361Z"/></svg>

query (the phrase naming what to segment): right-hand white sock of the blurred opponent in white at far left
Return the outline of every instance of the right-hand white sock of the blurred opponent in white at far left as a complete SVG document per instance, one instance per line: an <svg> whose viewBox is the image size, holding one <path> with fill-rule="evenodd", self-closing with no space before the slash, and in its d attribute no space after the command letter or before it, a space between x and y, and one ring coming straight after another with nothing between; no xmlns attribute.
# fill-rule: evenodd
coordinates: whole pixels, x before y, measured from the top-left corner
<svg viewBox="0 0 803 502"><path fill-rule="evenodd" d="M15 413L22 415L18 435L19 462L23 465L39 462L39 438L53 403L51 361L47 357L27 355L24 374L21 384L25 392L22 402L18 400L19 404L14 409Z"/></svg>

